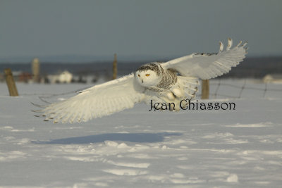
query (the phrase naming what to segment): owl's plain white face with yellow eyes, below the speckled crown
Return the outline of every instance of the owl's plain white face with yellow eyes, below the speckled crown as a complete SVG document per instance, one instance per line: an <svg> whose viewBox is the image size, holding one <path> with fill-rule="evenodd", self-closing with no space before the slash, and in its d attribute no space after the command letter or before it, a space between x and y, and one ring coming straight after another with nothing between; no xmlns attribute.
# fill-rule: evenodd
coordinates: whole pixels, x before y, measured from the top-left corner
<svg viewBox="0 0 282 188"><path fill-rule="evenodd" d="M157 86L161 81L161 77L157 75L153 70L137 70L135 73L135 79L144 87Z"/></svg>

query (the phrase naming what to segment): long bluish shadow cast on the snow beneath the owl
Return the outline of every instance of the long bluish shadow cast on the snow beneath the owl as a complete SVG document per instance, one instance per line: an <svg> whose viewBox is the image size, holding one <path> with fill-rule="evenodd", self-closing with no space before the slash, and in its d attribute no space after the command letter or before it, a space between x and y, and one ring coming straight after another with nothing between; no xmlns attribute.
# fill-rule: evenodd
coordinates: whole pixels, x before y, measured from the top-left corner
<svg viewBox="0 0 282 188"><path fill-rule="evenodd" d="M53 139L50 141L32 141L34 144L90 144L109 141L122 142L163 142L165 137L180 136L178 132L160 133L109 133L97 134L85 137L70 137L65 139Z"/></svg>

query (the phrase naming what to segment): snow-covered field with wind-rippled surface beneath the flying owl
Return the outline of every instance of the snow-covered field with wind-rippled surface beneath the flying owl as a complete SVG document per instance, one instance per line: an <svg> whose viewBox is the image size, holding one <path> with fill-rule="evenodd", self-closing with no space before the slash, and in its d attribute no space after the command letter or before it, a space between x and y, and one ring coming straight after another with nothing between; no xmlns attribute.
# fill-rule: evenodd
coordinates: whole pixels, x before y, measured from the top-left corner
<svg viewBox="0 0 282 188"><path fill-rule="evenodd" d="M38 96L87 86L17 83L21 96L10 97L0 83L0 187L281 187L282 92L263 98L246 89L241 99L209 100L234 102L235 111L150 112L139 104L66 125L33 116ZM254 80L247 86L264 88Z"/></svg>

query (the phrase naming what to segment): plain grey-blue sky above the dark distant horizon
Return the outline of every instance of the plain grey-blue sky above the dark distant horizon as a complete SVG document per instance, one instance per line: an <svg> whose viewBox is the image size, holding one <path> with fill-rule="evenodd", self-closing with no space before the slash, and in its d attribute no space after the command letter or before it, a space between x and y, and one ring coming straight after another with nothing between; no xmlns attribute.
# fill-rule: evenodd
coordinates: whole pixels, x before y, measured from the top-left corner
<svg viewBox="0 0 282 188"><path fill-rule="evenodd" d="M0 0L0 58L177 57L227 38L282 55L282 1Z"/></svg>

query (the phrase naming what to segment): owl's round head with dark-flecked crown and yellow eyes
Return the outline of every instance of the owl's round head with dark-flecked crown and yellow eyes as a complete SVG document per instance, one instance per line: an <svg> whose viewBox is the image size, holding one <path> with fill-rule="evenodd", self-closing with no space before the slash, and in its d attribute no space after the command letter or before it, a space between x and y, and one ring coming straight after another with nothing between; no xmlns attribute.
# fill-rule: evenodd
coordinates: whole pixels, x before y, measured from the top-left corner
<svg viewBox="0 0 282 188"><path fill-rule="evenodd" d="M144 87L157 86L161 81L158 65L154 63L142 65L135 72L135 79Z"/></svg>

